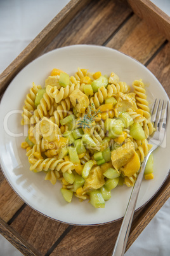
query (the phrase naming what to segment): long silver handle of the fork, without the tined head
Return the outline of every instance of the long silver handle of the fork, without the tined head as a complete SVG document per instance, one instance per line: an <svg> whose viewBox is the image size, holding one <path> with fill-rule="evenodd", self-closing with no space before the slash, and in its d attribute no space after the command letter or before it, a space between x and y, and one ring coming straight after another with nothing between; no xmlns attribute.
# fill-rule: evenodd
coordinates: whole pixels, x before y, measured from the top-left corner
<svg viewBox="0 0 170 256"><path fill-rule="evenodd" d="M140 173L138 174L138 178L136 179L136 182L134 183L133 190L131 192L131 197L129 199L128 206L126 208L126 212L122 221L121 229L119 231L119 234L117 236L117 240L115 242L114 251L112 253L112 256L123 256L125 249L126 249L126 243L128 241L129 231L131 229L131 223L133 220L134 210L136 206L136 202L138 199L138 194L140 192L140 186L141 181L143 178L143 173L145 171L145 166L147 164L148 157L150 156L151 152L148 152L147 157L145 157L145 160L141 164L140 167Z"/></svg>

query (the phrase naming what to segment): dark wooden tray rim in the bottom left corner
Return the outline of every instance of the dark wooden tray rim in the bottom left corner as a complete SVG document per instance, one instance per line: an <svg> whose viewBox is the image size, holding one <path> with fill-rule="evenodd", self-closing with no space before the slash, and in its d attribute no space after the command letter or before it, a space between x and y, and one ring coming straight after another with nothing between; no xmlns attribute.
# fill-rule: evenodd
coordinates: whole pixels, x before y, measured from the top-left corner
<svg viewBox="0 0 170 256"><path fill-rule="evenodd" d="M41 256L29 243L20 237L6 222L0 218L0 233L6 238L13 246L16 247L23 255L27 256Z"/></svg>

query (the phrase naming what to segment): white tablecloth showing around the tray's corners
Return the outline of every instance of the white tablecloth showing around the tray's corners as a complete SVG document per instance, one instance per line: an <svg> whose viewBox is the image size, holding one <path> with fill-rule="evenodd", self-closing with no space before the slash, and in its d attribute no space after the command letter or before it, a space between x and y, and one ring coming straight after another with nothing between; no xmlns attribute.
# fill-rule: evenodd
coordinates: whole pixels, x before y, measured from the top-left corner
<svg viewBox="0 0 170 256"><path fill-rule="evenodd" d="M0 73L41 32L69 0L0 0ZM19 256L0 236L0 255ZM170 199L155 215L126 256L170 255Z"/></svg>

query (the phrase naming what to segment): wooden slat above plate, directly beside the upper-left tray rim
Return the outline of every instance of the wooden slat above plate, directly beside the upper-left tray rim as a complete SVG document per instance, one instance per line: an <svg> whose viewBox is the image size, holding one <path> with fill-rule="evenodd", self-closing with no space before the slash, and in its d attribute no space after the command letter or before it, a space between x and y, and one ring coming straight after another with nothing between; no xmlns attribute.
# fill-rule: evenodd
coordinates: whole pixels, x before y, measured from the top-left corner
<svg viewBox="0 0 170 256"><path fill-rule="evenodd" d="M119 1L91 1L85 10L65 26L44 52L81 43L103 45L131 13L127 3L122 5Z"/></svg>

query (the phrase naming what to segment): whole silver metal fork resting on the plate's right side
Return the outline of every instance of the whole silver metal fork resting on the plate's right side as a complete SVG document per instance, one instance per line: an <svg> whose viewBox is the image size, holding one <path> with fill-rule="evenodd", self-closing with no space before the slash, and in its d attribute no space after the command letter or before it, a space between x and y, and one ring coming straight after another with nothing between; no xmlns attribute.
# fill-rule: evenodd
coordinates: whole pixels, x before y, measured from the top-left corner
<svg viewBox="0 0 170 256"><path fill-rule="evenodd" d="M131 229L131 223L133 220L134 209L136 206L136 202L138 199L138 194L140 192L141 181L143 178L143 173L145 171L145 166L147 164L147 160L152 153L164 140L164 136L166 134L166 123L167 123L167 108L168 108L168 101L157 101L155 100L154 107L152 110L152 117L151 122L154 123L154 127L156 131L154 132L153 136L148 138L149 143L152 144L151 150L148 152L147 157L145 157L143 163L141 164L140 171L138 174L138 178L134 183L133 190L131 192L131 197L129 199L128 206L126 208L126 212L122 221L121 229L117 236L117 240L115 242L114 251L112 256L123 256L126 243L128 241L129 231Z"/></svg>

